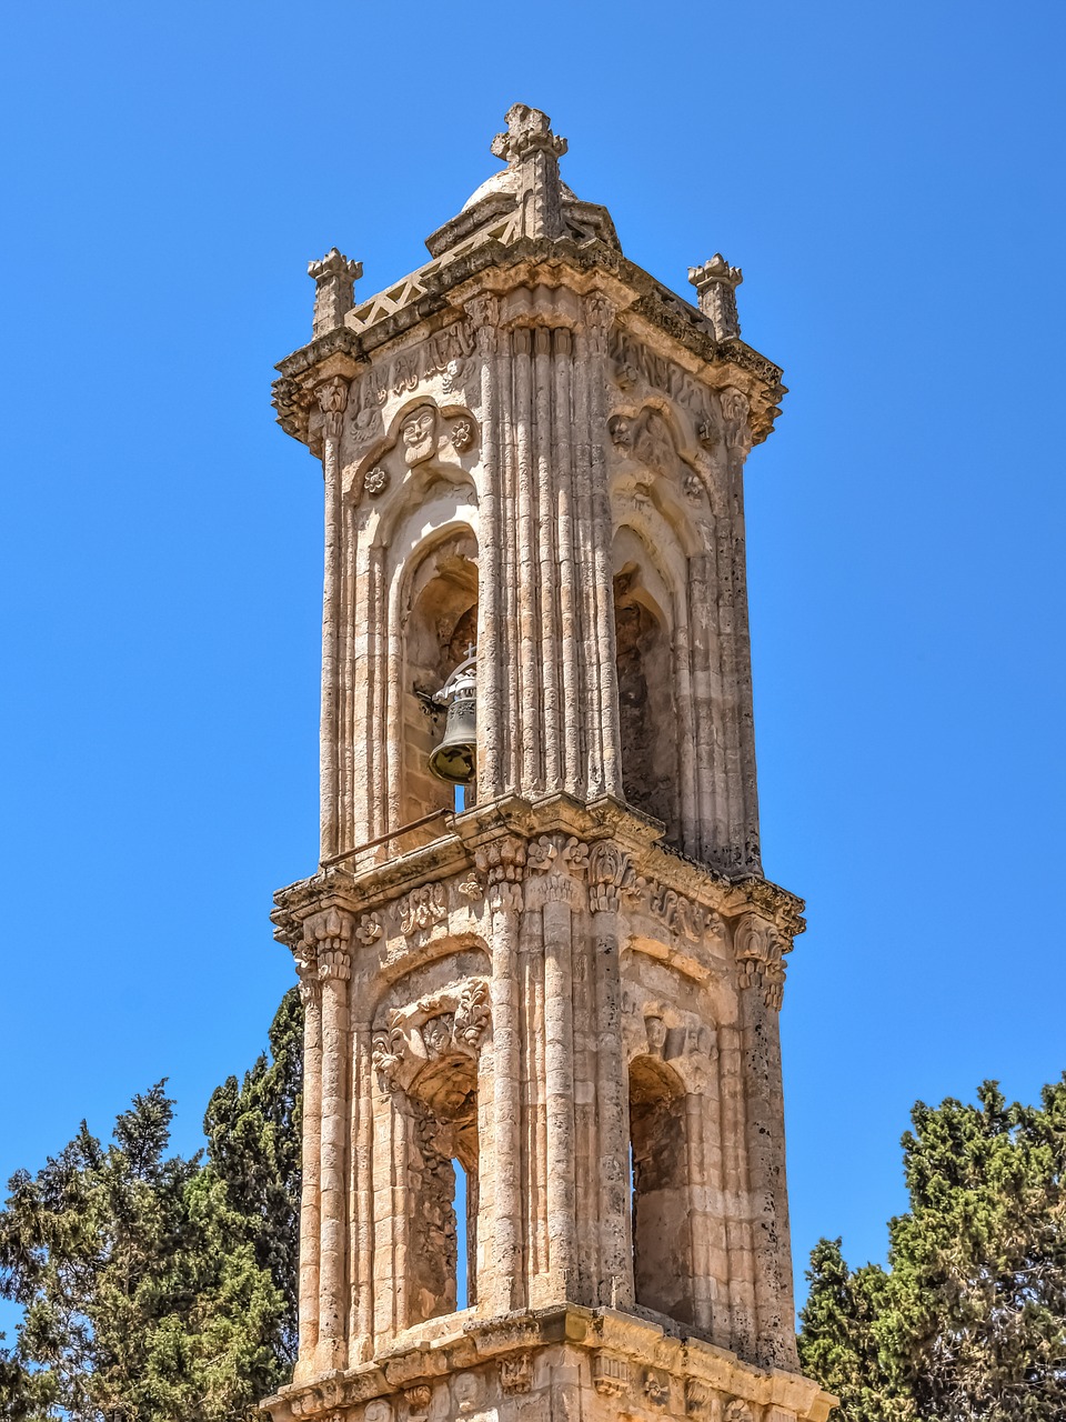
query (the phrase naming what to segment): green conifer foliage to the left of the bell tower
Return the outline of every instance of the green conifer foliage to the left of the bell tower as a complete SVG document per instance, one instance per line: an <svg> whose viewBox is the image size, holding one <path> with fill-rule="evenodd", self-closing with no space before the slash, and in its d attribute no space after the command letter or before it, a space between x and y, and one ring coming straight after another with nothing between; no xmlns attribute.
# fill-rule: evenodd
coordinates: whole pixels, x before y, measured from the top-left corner
<svg viewBox="0 0 1066 1422"><path fill-rule="evenodd" d="M82 1123L0 1212L0 1415L229 1422L284 1382L294 1347L303 1014L286 995L243 1085L208 1111L208 1159L166 1156L165 1084L104 1146Z"/></svg>

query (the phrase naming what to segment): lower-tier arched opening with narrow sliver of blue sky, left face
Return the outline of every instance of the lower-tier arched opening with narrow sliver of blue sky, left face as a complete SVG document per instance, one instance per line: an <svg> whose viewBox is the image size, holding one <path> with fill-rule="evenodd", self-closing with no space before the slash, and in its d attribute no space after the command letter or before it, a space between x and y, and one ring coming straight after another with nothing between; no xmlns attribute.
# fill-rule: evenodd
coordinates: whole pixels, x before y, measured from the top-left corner
<svg viewBox="0 0 1066 1422"><path fill-rule="evenodd" d="M408 1324L418 1324L478 1301L478 1064L458 1054L434 1061L415 1082L411 1106L415 1190L405 1273Z"/></svg>

